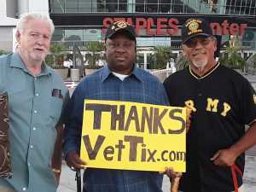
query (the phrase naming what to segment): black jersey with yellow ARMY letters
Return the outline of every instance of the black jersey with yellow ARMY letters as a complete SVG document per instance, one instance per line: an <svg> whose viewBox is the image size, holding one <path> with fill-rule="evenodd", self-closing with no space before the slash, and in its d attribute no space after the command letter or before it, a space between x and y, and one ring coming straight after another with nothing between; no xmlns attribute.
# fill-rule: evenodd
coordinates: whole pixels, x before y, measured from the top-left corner
<svg viewBox="0 0 256 192"><path fill-rule="evenodd" d="M171 106L193 109L187 135L187 172L180 190L184 192L230 192L234 190L230 167L210 160L219 149L230 148L245 134L245 125L256 119L256 96L247 79L236 71L217 65L203 77L189 67L173 73L164 85ZM236 166L244 170L241 154ZM241 176L237 175L239 186Z"/></svg>

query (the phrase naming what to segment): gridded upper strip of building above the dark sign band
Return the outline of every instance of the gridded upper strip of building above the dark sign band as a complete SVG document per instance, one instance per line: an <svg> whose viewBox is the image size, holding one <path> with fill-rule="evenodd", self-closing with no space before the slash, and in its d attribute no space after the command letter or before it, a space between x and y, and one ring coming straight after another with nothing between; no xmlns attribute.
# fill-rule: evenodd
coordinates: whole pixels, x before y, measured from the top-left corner
<svg viewBox="0 0 256 192"><path fill-rule="evenodd" d="M202 13L256 15L255 0L50 0L50 13ZM175 2L175 3L174 3ZM196 4L196 6L194 6Z"/></svg>

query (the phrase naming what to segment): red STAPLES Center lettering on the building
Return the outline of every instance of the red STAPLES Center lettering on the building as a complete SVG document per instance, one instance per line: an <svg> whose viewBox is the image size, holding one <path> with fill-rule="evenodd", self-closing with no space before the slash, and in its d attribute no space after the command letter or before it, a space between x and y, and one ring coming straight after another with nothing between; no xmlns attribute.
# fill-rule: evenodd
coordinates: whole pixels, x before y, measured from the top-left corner
<svg viewBox="0 0 256 192"><path fill-rule="evenodd" d="M103 19L102 26L108 28L110 23L125 20L129 22L132 26L136 27L137 35L141 35L142 32L148 36L168 36L168 35L178 35L178 26L182 26L177 18L143 18L136 17L135 19L128 17L105 17ZM212 22L212 31L215 35L243 35L245 29L247 28L246 23L230 23L228 20L222 21L222 23ZM103 29L103 33L106 32L106 28Z"/></svg>

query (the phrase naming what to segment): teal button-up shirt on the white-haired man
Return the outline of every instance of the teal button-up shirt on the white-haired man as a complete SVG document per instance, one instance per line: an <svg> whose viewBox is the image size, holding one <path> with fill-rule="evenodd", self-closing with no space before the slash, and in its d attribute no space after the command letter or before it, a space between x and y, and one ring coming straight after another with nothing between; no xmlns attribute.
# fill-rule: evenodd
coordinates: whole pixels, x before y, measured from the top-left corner
<svg viewBox="0 0 256 192"><path fill-rule="evenodd" d="M56 94L61 90L61 94ZM0 57L0 93L9 94L9 141L13 177L0 177L0 186L17 192L54 192L51 170L55 125L69 99L66 85L53 69L42 65L34 77L19 54Z"/></svg>

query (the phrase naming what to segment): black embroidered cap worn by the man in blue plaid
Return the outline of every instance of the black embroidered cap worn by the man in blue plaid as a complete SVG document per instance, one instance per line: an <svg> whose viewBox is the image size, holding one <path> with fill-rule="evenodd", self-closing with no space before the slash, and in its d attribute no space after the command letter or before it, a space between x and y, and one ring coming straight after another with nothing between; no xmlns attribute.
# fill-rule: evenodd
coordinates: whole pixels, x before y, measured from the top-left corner
<svg viewBox="0 0 256 192"><path fill-rule="evenodd" d="M108 26L105 41L107 40L107 38L113 38L118 33L125 34L128 38L131 38L131 40L136 41L136 32L134 30L134 27L131 26L130 23L125 22L125 20L113 22L111 25Z"/></svg>

